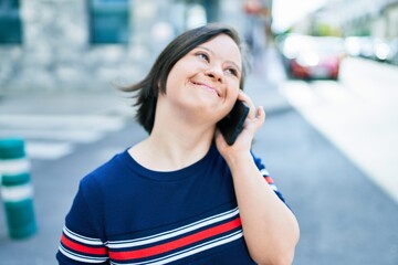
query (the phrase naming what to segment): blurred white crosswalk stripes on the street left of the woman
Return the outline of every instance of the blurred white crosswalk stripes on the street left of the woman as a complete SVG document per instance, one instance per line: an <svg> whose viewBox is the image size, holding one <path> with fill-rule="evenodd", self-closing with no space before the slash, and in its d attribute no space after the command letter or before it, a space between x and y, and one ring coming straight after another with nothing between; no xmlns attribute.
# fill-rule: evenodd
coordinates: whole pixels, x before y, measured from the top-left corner
<svg viewBox="0 0 398 265"><path fill-rule="evenodd" d="M0 138L23 138L32 160L56 160L125 125L126 117L112 115L1 114Z"/></svg>

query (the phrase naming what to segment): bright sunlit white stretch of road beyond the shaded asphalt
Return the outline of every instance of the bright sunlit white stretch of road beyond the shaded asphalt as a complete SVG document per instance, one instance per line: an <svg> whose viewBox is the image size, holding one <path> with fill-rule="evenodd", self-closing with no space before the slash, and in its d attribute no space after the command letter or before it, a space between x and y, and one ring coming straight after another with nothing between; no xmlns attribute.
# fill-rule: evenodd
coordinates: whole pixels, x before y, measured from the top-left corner
<svg viewBox="0 0 398 265"><path fill-rule="evenodd" d="M398 67L346 59L339 82L287 81L287 100L398 203Z"/></svg>

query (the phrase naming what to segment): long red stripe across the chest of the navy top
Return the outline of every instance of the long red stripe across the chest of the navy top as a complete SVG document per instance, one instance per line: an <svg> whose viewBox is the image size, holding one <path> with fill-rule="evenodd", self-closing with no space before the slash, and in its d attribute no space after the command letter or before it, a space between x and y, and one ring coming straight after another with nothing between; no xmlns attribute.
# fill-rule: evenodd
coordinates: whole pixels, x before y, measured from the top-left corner
<svg viewBox="0 0 398 265"><path fill-rule="evenodd" d="M172 250L176 250L179 247L184 247L186 245L196 243L198 241L231 231L233 229L239 227L240 225L241 225L240 218L237 218L228 223L220 224L218 226L203 230L196 234L188 235L188 236L179 239L179 240L164 243L161 245L136 250L136 251L109 252L109 257L114 258L114 259L118 259L118 261L127 261L127 259L143 258L143 257L148 257L148 256L153 256L153 255L158 255L158 254L163 254L165 252L169 252L169 251L172 251Z"/></svg>

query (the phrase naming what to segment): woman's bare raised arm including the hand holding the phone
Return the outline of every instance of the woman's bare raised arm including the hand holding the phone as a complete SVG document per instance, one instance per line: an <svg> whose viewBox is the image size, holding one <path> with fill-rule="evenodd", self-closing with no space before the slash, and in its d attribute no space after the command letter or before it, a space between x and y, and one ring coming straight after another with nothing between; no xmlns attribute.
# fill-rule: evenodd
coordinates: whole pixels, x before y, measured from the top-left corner
<svg viewBox="0 0 398 265"><path fill-rule="evenodd" d="M244 129L233 146L220 132L216 142L229 165L240 210L244 239L252 258L259 264L291 264L300 231L294 214L279 199L260 173L250 153L251 142L265 119L243 93L240 99L251 106Z"/></svg>

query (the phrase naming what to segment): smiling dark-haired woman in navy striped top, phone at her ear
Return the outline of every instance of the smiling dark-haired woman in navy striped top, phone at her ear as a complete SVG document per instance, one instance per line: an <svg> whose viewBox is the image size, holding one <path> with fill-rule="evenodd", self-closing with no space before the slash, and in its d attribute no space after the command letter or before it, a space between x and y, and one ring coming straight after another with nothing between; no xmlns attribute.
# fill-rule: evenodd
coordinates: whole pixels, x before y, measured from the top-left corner
<svg viewBox="0 0 398 265"><path fill-rule="evenodd" d="M298 225L251 152L265 114L242 92L244 75L226 25L187 31L163 51L126 88L149 136L81 181L60 264L292 263ZM217 124L237 99L250 112L230 146Z"/></svg>

